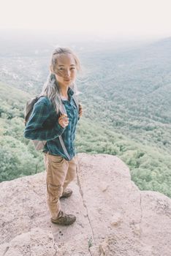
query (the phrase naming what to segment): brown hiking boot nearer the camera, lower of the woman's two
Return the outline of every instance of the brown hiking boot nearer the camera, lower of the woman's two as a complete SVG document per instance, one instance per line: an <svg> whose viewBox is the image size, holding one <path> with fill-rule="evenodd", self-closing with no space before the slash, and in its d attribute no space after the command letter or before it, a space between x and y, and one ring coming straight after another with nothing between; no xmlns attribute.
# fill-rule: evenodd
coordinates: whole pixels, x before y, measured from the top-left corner
<svg viewBox="0 0 171 256"><path fill-rule="evenodd" d="M59 217L57 219L52 219L51 218L50 219L51 222L53 222L54 224L60 224L60 225L71 225L76 220L75 215L64 214L64 211L60 211L58 216Z"/></svg>

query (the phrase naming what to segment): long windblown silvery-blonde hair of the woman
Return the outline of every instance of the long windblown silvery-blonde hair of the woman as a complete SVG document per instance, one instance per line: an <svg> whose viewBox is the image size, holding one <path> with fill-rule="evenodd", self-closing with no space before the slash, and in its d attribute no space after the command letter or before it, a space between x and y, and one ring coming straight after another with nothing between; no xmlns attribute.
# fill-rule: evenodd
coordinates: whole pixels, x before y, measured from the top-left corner
<svg viewBox="0 0 171 256"><path fill-rule="evenodd" d="M40 96L46 96L53 103L53 107L56 109L56 112L61 111L61 97L60 97L60 89L58 86L58 81L56 80L56 64L59 54L71 53L75 59L76 69L80 71L80 61L75 55L75 53L67 47L57 47L53 50L51 59L50 59L50 73L47 77L47 81L42 87L42 92L39 94ZM77 85L75 82L69 86L75 94L77 94Z"/></svg>

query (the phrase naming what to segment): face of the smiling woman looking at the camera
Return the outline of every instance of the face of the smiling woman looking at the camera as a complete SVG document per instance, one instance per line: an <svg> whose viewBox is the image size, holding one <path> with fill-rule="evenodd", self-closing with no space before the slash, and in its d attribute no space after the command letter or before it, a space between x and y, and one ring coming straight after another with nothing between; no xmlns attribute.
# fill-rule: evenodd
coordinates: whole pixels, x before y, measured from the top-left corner
<svg viewBox="0 0 171 256"><path fill-rule="evenodd" d="M58 55L55 75L59 86L69 86L75 81L77 69L72 54L62 53Z"/></svg>

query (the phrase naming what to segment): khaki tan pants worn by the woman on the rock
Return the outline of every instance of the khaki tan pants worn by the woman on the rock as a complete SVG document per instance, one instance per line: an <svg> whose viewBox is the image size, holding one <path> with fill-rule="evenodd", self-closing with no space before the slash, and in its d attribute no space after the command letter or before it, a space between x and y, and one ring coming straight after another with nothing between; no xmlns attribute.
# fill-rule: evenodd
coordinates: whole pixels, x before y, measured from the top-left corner
<svg viewBox="0 0 171 256"><path fill-rule="evenodd" d="M77 157L66 161L61 156L44 154L47 184L47 206L51 217L56 219L61 211L60 196L76 176Z"/></svg>

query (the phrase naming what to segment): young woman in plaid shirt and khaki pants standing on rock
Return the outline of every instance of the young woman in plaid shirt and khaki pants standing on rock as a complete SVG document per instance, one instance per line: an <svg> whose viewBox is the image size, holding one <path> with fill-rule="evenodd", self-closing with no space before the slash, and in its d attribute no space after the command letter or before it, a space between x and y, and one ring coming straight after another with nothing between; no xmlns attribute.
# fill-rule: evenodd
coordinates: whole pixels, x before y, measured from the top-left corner
<svg viewBox="0 0 171 256"><path fill-rule="evenodd" d="M61 210L60 198L72 195L72 190L66 187L76 174L75 130L83 113L75 98L77 71L80 71L80 61L71 49L53 50L50 75L24 131L25 138L46 141L43 152L47 206L51 222L61 225L70 225L76 220L74 215Z"/></svg>

